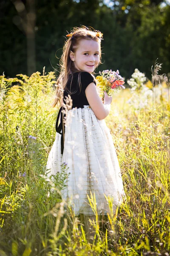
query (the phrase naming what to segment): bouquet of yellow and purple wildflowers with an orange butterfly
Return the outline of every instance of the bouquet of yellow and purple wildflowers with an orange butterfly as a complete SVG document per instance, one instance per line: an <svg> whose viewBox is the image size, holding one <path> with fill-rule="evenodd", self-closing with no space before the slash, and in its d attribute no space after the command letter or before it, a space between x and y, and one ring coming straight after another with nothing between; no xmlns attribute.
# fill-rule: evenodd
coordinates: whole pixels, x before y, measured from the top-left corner
<svg viewBox="0 0 170 256"><path fill-rule="evenodd" d="M125 89L125 82L123 81L122 76L119 75L119 70L103 70L99 71L100 76L96 77L97 85L101 89L101 95L104 99L104 91L108 93L108 96L111 96L113 93L116 93L118 90Z"/></svg>

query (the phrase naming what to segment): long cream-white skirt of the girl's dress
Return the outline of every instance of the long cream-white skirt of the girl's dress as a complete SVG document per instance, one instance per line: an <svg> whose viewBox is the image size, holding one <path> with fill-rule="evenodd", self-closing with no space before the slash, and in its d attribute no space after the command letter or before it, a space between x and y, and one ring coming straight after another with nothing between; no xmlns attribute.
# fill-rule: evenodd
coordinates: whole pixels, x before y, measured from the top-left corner
<svg viewBox="0 0 170 256"><path fill-rule="evenodd" d="M48 156L48 176L61 172L66 163L70 172L62 198L71 199L75 215L94 215L87 195L96 197L98 214L110 212L106 196L113 199L113 211L125 198L122 175L113 139L105 120L99 120L89 105L68 111L65 123L64 151L61 154L61 134Z"/></svg>

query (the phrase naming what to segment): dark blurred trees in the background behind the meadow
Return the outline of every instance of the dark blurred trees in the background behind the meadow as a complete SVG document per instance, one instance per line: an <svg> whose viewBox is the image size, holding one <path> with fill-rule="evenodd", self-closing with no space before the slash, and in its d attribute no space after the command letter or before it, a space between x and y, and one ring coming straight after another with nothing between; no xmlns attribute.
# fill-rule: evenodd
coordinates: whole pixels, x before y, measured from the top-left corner
<svg viewBox="0 0 170 256"><path fill-rule="evenodd" d="M156 58L170 72L169 0L1 0L0 75L31 76L44 66L57 75L65 35L80 25L103 33L96 73L118 69L129 79L138 68L151 79Z"/></svg>

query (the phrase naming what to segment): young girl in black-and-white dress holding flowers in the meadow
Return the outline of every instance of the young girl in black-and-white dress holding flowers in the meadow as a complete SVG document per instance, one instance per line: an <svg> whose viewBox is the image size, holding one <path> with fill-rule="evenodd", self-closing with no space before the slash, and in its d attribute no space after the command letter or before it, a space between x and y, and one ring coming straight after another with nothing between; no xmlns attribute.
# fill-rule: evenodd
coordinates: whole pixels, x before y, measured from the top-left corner
<svg viewBox="0 0 170 256"><path fill-rule="evenodd" d="M102 34L83 26L66 36L53 106L59 100L62 106L68 105L65 100L68 95L72 106L64 116L63 108L59 110L56 139L46 168L50 176L61 172L62 163L67 164L70 174L62 198L72 199L75 215L93 217L87 197L91 197L90 192L95 193L98 214L110 212L105 195L113 198L113 209L125 195L113 139L104 121L112 97L105 92L103 104L92 75L101 61ZM59 84L63 87L63 100Z"/></svg>

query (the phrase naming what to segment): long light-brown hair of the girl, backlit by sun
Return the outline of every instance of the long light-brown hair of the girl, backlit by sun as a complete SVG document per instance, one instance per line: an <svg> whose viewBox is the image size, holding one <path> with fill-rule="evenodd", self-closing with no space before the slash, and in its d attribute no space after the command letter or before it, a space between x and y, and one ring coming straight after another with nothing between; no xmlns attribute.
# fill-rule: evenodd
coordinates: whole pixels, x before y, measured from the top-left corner
<svg viewBox="0 0 170 256"><path fill-rule="evenodd" d="M62 56L59 61L60 74L59 74L59 77L55 84L56 96L55 96L54 102L52 103L52 107L55 107L58 102L60 102L60 105L61 105L63 91L66 87L69 76L71 75L73 78L73 74L76 72L79 72L79 70L77 70L76 67L74 66L74 62L70 58L70 52L76 51L79 40L93 39L93 40L99 42L99 46L101 45L101 38L102 38L101 32L99 32L97 30L92 30L91 28L88 28L86 26L74 27L74 29L71 31L71 34L69 34L69 35L70 35L70 37L64 43ZM102 52L101 52L101 46L100 46L99 64L101 63L101 54L102 54ZM81 90L80 75L81 75L81 73L78 74L78 81L79 81L79 86L80 86L80 90Z"/></svg>

